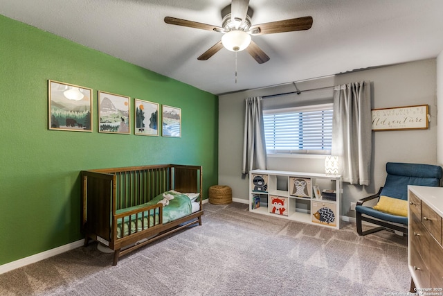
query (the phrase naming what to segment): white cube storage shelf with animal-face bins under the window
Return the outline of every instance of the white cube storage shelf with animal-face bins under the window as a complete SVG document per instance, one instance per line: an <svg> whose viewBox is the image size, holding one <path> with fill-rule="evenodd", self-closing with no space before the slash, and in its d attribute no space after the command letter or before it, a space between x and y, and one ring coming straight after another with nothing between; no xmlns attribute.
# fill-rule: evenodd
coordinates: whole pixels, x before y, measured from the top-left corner
<svg viewBox="0 0 443 296"><path fill-rule="evenodd" d="M282 180L285 186L278 185ZM329 189L335 190L335 200L314 193L320 180L335 182ZM249 172L249 211L339 229L341 190L340 175L254 170Z"/></svg>

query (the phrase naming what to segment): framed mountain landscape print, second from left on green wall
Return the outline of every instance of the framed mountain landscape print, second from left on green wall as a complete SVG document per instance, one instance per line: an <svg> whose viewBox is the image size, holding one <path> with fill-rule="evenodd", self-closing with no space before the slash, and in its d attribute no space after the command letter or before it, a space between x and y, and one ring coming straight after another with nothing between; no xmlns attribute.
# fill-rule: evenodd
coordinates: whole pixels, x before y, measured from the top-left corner
<svg viewBox="0 0 443 296"><path fill-rule="evenodd" d="M98 91L98 132L129 134L129 96Z"/></svg>

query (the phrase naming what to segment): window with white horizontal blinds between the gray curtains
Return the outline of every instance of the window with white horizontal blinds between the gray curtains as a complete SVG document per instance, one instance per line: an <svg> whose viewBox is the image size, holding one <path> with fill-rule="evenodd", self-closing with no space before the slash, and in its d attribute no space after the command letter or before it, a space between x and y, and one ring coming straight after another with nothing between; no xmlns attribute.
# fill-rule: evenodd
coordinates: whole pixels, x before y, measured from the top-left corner
<svg viewBox="0 0 443 296"><path fill-rule="evenodd" d="M332 103L263 110L266 151L329 154L332 145Z"/></svg>

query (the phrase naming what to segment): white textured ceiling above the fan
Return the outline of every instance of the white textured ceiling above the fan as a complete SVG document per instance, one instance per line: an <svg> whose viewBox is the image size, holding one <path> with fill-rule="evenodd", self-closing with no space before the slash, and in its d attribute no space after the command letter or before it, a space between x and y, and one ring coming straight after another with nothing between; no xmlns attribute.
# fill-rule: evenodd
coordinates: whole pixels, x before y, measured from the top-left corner
<svg viewBox="0 0 443 296"><path fill-rule="evenodd" d="M221 33L165 24L177 17L221 26L230 0L0 0L0 14L213 94L435 58L442 0L251 0L252 24L311 15L308 31L253 36L271 58L221 49Z"/></svg>

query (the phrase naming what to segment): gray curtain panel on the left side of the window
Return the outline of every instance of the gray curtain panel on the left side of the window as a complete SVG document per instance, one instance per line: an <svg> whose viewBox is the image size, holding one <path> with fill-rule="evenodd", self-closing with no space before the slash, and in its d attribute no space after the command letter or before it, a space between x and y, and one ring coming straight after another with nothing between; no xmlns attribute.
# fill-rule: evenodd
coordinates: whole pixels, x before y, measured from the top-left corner
<svg viewBox="0 0 443 296"><path fill-rule="evenodd" d="M264 140L262 97L246 98L243 134L242 173L255 169L266 170L266 142Z"/></svg>

